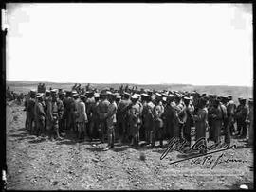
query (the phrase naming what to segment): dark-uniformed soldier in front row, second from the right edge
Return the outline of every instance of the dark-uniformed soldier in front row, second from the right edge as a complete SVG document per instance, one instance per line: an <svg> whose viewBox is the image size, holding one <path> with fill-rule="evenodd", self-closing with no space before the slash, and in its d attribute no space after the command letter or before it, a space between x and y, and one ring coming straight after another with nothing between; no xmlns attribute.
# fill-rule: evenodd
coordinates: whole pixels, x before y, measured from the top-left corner
<svg viewBox="0 0 256 192"><path fill-rule="evenodd" d="M242 98L241 99L241 108L239 110L239 112L237 113L237 121L240 122L239 124L239 128L238 128L238 131L241 131L242 129L242 132L239 132L240 133L240 137L241 138L245 138L247 136L247 115L248 115L248 106L247 106L247 99L246 98Z"/></svg>

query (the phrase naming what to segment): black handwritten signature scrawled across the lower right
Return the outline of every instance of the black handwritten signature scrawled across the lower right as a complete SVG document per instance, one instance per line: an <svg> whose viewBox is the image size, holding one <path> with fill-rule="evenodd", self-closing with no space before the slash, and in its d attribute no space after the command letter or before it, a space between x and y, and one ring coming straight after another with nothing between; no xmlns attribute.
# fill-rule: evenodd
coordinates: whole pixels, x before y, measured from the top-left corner
<svg viewBox="0 0 256 192"><path fill-rule="evenodd" d="M160 160L163 160L169 152L179 151L183 154L190 154L192 152L199 152L199 154L193 155L192 157L188 157L188 158L185 158L185 159L181 159L181 160L171 162L170 164L175 164L175 163L178 163L178 162L183 162L183 161L186 161L186 160L189 160L189 159L194 159L194 158L197 158L197 159L192 160L192 164L201 164L202 163L203 165L204 164L210 164L211 165L214 162L213 166L211 168L214 168L217 164L228 163L230 161L232 161L232 162L234 162L234 161L243 162L243 160L236 160L236 159L230 160L229 158L228 158L228 160L224 160L224 158L223 158L224 153L219 155L218 158L216 159L216 161L214 161L213 158L212 158L212 155L210 155L210 154L213 154L213 153L216 153L216 152L221 152L221 151L229 150L229 149L232 149L232 148L236 148L236 145L229 146L226 143L221 144L219 142L219 143L215 143L213 145L207 146L206 145L207 140L206 140L205 137L202 137L202 138L198 139L192 145L192 147L185 149L188 146L188 144L189 143L185 139L181 140L179 138L174 137L173 139L171 139L169 141L168 148L166 148L164 150L164 152L162 153L162 155L160 157ZM203 157L203 156L205 156L203 158L203 160L198 159L199 157ZM198 163L198 162L200 162L200 163Z"/></svg>

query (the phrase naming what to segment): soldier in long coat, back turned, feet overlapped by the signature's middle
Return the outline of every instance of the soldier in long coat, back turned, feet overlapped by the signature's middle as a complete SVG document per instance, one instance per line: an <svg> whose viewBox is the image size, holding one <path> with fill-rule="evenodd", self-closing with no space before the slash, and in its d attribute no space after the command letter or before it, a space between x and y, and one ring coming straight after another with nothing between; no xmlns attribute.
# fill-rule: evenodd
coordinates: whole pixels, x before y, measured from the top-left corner
<svg viewBox="0 0 256 192"><path fill-rule="evenodd" d="M198 102L198 111L193 116L195 125L195 140L198 141L200 138L206 138L206 130L208 127L208 111L206 108L207 100L200 98ZM205 146L207 146L206 140L203 140ZM201 150L205 153L205 150Z"/></svg>

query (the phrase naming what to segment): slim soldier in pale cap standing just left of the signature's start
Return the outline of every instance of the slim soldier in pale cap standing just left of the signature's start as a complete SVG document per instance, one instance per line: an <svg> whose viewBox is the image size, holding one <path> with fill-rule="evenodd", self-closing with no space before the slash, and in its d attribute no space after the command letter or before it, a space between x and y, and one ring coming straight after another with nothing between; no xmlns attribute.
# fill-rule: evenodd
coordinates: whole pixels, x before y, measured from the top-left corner
<svg viewBox="0 0 256 192"><path fill-rule="evenodd" d="M154 108L154 127L151 137L151 145L155 147L156 138L159 139L160 147L163 147L163 119L162 114L164 113L164 107L162 104L162 97L160 94L156 93L155 97L155 108Z"/></svg>

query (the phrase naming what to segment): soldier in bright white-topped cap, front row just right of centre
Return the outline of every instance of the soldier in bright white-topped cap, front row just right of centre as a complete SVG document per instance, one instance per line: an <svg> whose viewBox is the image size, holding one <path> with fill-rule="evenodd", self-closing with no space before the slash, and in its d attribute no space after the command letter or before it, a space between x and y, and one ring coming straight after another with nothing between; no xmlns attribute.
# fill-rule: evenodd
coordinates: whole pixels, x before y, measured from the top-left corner
<svg viewBox="0 0 256 192"><path fill-rule="evenodd" d="M138 96L131 96L132 105L129 109L129 131L132 136L132 146L138 146L139 143L139 128L141 124L140 115L142 113L142 104L138 102Z"/></svg>

